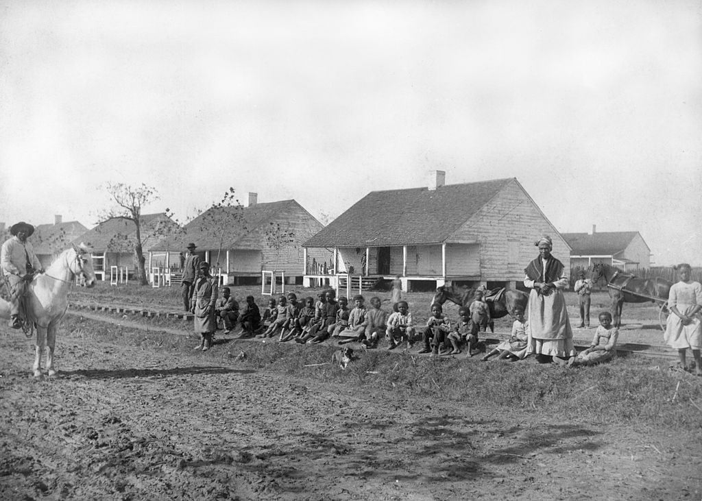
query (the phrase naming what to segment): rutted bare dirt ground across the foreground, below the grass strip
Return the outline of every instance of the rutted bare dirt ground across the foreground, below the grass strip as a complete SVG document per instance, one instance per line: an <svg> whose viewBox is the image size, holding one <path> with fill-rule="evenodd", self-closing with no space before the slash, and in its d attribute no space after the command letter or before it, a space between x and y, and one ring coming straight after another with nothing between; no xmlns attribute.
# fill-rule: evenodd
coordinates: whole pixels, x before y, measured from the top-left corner
<svg viewBox="0 0 702 501"><path fill-rule="evenodd" d="M0 327L2 499L702 498L699 436L406 399L314 367L291 378L223 350L79 331L60 335L58 377L35 380L33 352Z"/></svg>

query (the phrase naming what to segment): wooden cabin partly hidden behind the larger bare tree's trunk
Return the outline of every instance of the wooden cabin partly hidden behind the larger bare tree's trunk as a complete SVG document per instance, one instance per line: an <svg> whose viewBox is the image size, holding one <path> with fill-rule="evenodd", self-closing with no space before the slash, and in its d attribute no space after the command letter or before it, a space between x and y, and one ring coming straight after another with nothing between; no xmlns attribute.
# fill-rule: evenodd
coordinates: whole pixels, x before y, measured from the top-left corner
<svg viewBox="0 0 702 501"><path fill-rule="evenodd" d="M141 215L141 239L145 257L147 248L162 239L164 235L178 229L178 224L165 213ZM101 222L88 230L73 243L85 243L93 250L95 278L107 281L112 267L126 274L130 279L137 276L137 263L134 254L136 227L130 220L114 218ZM147 270L148 271L148 270Z"/></svg>

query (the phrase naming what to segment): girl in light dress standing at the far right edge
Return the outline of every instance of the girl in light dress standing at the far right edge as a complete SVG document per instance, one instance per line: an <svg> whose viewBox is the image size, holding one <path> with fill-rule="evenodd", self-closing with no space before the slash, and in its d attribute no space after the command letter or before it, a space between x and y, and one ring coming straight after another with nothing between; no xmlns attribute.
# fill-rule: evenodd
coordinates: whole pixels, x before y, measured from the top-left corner
<svg viewBox="0 0 702 501"><path fill-rule="evenodd" d="M677 266L679 282L673 283L668 295L668 323L665 326L664 339L668 346L677 349L680 365L685 366L685 352L692 350L695 359L695 374L702 376L702 285L690 279L691 267L686 262Z"/></svg>

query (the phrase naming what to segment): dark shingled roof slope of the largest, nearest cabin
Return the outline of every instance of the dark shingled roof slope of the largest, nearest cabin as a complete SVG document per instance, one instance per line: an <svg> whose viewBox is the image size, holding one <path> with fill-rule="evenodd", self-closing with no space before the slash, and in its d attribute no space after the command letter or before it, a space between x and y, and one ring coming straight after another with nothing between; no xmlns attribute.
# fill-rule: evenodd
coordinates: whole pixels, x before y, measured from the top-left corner
<svg viewBox="0 0 702 501"><path fill-rule="evenodd" d="M370 192L304 247L442 243L515 178Z"/></svg>

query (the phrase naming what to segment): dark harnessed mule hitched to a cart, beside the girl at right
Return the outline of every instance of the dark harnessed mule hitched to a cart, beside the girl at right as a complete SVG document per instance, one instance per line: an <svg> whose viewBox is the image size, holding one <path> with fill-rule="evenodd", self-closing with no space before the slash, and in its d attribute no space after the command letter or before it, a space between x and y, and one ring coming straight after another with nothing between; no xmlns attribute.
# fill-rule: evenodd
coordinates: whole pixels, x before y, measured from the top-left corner
<svg viewBox="0 0 702 501"><path fill-rule="evenodd" d="M625 302L656 302L652 299L642 298L642 296L637 294L668 300L670 287L673 286L673 282L657 276L652 279L640 279L614 266L597 263L592 267L592 283L596 284L601 280L604 280L609 285L630 290L634 293L630 294L616 288L607 287L609 297L612 300L612 323L617 328L621 327L621 310Z"/></svg>

